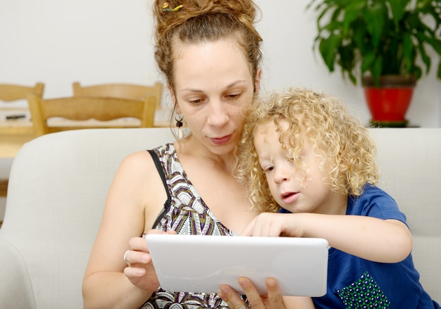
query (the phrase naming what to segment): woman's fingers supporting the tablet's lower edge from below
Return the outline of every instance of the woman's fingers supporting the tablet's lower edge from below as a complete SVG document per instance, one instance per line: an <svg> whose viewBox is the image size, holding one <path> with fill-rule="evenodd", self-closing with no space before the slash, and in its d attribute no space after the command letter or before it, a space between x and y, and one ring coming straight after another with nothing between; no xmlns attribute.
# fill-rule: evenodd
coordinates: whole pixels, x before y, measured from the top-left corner
<svg viewBox="0 0 441 309"><path fill-rule="evenodd" d="M260 296L256 287L247 277L240 277L238 279L240 286L244 289L247 295L249 305L253 309L285 309L285 303L283 302L282 295L280 294L280 289L277 281L274 278L266 279L266 289L268 294L265 296ZM218 293L224 301L228 303L228 306L232 309L245 309L249 308L249 305L242 301L242 299L237 295L237 292L227 284L221 285L221 291Z"/></svg>

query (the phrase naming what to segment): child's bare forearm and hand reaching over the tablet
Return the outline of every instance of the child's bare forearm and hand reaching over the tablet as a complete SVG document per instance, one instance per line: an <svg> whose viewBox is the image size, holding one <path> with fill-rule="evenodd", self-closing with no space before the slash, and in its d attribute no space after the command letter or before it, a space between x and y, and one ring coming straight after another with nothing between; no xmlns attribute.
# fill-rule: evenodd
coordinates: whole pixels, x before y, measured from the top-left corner
<svg viewBox="0 0 441 309"><path fill-rule="evenodd" d="M242 235L324 238L333 248L380 263L400 262L412 248L403 222L361 215L262 213Z"/></svg>

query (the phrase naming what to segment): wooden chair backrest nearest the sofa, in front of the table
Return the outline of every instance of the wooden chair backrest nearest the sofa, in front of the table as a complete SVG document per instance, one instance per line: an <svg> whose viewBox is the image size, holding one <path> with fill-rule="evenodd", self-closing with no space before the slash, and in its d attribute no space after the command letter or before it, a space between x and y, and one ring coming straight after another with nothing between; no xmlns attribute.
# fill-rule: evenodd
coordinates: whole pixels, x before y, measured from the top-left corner
<svg viewBox="0 0 441 309"><path fill-rule="evenodd" d="M69 96L56 99L43 99L37 94L27 96L32 122L37 136L63 130L93 127L153 127L156 110L156 96L144 99L120 99L98 96ZM99 120L73 125L71 122L58 122L49 126L50 118L67 120ZM120 118L137 118L140 124L128 122L108 122ZM107 124L106 124L107 123Z"/></svg>

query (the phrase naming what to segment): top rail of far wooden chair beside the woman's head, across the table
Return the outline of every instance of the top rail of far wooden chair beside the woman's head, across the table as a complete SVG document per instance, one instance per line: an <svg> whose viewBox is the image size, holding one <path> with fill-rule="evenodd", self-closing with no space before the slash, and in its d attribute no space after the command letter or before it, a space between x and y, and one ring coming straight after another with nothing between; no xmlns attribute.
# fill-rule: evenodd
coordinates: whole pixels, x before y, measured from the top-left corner
<svg viewBox="0 0 441 309"><path fill-rule="evenodd" d="M111 96L121 99L144 99L146 96L156 96L156 108L161 106L162 84L156 82L151 86L140 84L96 84L82 86L80 82L73 83L73 96Z"/></svg>

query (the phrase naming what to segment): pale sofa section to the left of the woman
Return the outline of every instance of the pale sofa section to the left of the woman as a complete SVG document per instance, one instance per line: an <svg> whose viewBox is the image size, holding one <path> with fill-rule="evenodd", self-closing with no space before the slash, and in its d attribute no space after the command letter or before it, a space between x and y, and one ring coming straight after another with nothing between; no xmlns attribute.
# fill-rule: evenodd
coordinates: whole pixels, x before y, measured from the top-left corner
<svg viewBox="0 0 441 309"><path fill-rule="evenodd" d="M13 161L0 229L0 308L82 308L82 277L119 163L168 141L168 128L92 129L25 144Z"/></svg>

